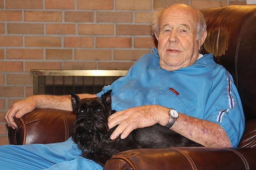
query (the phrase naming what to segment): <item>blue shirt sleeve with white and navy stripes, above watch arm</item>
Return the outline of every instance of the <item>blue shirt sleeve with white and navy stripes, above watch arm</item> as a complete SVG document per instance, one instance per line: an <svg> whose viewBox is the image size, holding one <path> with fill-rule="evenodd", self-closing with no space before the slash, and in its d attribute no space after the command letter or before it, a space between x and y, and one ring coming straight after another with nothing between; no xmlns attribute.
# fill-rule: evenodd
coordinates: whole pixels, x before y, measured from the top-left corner
<svg viewBox="0 0 256 170"><path fill-rule="evenodd" d="M205 107L205 120L221 125L232 146L237 147L245 129L245 117L233 78L228 71L224 71L223 74L213 75L215 83Z"/></svg>

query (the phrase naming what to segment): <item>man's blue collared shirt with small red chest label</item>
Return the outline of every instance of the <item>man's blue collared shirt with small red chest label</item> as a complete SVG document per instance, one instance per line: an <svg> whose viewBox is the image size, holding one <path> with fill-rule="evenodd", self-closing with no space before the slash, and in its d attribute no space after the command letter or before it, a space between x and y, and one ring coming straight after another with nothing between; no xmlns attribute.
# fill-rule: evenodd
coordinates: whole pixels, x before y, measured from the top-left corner
<svg viewBox="0 0 256 170"><path fill-rule="evenodd" d="M220 124L233 147L242 137L245 117L230 73L206 54L193 65L175 71L161 69L158 51L144 54L127 75L103 87L113 89L112 109L161 105L180 113Z"/></svg>

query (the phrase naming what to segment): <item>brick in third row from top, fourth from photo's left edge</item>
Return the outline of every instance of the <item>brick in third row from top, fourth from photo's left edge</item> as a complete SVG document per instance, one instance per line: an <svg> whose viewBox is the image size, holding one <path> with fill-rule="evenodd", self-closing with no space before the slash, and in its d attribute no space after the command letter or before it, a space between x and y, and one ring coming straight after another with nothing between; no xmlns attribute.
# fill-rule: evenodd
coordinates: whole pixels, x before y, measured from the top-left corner
<svg viewBox="0 0 256 170"><path fill-rule="evenodd" d="M114 25L107 24L79 24L78 34L113 35Z"/></svg>

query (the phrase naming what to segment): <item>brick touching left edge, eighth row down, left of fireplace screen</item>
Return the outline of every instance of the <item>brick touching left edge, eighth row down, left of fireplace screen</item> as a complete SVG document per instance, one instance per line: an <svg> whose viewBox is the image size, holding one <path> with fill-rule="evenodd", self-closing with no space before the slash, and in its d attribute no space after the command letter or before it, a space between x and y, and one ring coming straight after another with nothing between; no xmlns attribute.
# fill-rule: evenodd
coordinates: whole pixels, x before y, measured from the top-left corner
<svg viewBox="0 0 256 170"><path fill-rule="evenodd" d="M23 97L23 87L0 87L1 97Z"/></svg>

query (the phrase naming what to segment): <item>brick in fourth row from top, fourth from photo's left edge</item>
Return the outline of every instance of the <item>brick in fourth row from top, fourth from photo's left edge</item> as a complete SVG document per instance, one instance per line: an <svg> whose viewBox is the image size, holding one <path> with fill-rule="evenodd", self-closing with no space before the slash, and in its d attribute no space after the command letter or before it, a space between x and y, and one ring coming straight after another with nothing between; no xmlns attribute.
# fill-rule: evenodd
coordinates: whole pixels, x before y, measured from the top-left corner
<svg viewBox="0 0 256 170"><path fill-rule="evenodd" d="M97 37L96 47L131 48L131 38L127 37Z"/></svg>

